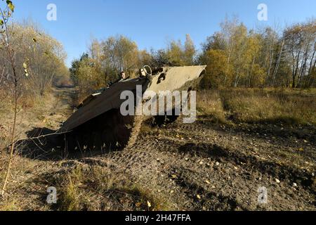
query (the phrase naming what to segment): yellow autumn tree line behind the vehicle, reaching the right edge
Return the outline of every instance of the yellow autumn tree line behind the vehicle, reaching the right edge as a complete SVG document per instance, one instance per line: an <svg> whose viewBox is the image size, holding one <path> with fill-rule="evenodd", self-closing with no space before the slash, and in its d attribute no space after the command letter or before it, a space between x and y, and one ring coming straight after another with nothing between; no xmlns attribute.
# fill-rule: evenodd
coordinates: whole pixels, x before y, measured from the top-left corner
<svg viewBox="0 0 316 225"><path fill-rule="evenodd" d="M277 32L272 27L249 30L237 18L226 18L199 51L189 34L184 43L173 40L164 49L150 51L139 50L122 35L93 39L88 51L73 61L70 74L82 90L91 91L117 79L121 70L136 76L142 65L207 65L205 89L309 88L315 86L315 40L315 19Z"/></svg>

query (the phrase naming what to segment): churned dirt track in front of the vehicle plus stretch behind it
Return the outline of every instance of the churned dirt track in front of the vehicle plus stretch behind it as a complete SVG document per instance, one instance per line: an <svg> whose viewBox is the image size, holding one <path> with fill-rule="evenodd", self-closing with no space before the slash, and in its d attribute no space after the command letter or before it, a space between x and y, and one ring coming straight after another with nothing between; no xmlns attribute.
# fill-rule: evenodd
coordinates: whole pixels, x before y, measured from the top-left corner
<svg viewBox="0 0 316 225"><path fill-rule="evenodd" d="M70 115L73 91L56 90L59 100L45 115L53 127ZM140 135L121 152L72 160L24 157L32 161L32 169L20 183L27 182L24 195L33 196L25 203L43 205L39 174L56 174L80 163L124 171L172 210L316 210L315 128L297 133L269 124L217 126L207 117L194 124L181 121ZM261 187L268 191L268 204L258 203Z"/></svg>

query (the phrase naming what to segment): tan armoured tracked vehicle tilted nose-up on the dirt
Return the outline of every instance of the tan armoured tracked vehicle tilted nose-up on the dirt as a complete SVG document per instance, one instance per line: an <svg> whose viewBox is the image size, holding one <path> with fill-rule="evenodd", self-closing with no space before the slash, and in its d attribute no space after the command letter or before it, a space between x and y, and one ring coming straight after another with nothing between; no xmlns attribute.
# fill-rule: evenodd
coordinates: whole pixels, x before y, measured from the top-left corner
<svg viewBox="0 0 316 225"><path fill-rule="evenodd" d="M159 93L161 91L191 91L198 86L206 66L164 67L152 71L149 66L140 69L139 77L121 80L105 89L96 91L88 96L77 108L77 111L62 124L60 132L65 134L65 149L67 150L104 150L133 146L138 138L140 127L145 120L154 116L122 115L121 99L123 91L129 91L137 96L141 88L140 101L148 101L145 93ZM145 94L146 95L146 94ZM139 96L138 96L139 97ZM145 99L146 98L146 99ZM160 110L157 120L176 120L176 116L169 117ZM162 116L164 115L164 116ZM159 117L159 118L158 118Z"/></svg>

